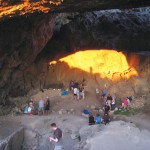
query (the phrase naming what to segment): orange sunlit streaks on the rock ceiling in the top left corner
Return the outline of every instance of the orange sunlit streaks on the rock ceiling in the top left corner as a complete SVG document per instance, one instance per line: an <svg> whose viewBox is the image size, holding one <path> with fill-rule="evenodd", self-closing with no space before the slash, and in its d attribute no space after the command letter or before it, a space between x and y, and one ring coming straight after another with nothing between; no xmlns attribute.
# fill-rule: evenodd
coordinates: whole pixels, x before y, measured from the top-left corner
<svg viewBox="0 0 150 150"><path fill-rule="evenodd" d="M19 4L9 5L7 2L0 1L0 18L29 14L35 11L47 13L50 11L50 5L58 6L62 2L63 0L37 0L33 2L22 0Z"/></svg>

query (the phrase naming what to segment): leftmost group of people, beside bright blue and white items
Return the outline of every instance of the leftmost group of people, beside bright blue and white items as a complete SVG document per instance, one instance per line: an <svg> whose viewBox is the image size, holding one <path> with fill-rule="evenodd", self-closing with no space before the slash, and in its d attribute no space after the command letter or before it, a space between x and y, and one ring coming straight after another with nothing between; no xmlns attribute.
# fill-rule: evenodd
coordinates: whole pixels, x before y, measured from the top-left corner
<svg viewBox="0 0 150 150"><path fill-rule="evenodd" d="M35 103L31 99L29 101L29 105L25 106L23 113L30 114L30 115L40 115L40 114L49 114L50 111L50 99L49 97L46 98L46 102L41 98L38 102L38 108L35 108ZM37 112L37 113L36 113Z"/></svg>

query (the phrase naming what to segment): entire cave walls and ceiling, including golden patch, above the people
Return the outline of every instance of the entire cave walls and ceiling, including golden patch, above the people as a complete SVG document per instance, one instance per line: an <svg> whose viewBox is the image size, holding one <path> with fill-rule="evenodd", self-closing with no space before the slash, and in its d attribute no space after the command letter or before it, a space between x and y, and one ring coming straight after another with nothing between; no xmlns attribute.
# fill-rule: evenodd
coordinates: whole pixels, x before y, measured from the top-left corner
<svg viewBox="0 0 150 150"><path fill-rule="evenodd" d="M10 114L15 98L27 99L33 91L68 90L72 80L84 82L87 95L100 87L118 99L144 99L143 109L149 113L149 4L0 0L0 109L8 109L0 115ZM21 128L19 134L26 131Z"/></svg>

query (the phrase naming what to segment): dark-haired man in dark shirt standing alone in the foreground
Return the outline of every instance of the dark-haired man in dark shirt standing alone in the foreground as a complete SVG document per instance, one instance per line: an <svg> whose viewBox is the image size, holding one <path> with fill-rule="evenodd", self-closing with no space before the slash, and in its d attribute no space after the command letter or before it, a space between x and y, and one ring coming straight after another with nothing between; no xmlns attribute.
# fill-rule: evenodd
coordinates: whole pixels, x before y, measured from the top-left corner
<svg viewBox="0 0 150 150"><path fill-rule="evenodd" d="M50 142L55 142L54 150L62 150L63 147L63 133L61 129L56 126L56 123L51 124L52 130L54 131L53 137L49 137Z"/></svg>

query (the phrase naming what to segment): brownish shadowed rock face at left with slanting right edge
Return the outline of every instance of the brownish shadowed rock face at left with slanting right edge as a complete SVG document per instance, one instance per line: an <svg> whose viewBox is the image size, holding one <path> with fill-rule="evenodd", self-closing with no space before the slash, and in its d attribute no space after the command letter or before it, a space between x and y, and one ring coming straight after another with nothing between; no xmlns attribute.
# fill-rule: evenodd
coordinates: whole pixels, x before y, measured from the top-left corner
<svg viewBox="0 0 150 150"><path fill-rule="evenodd" d="M15 94L13 89L20 89L20 85L26 89L27 78L33 76L24 70L34 62L52 37L54 22L55 15L39 15L0 23L1 101L7 98L10 90Z"/></svg>

